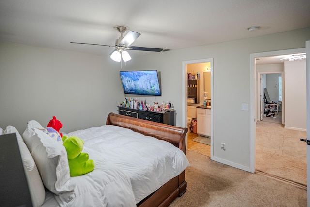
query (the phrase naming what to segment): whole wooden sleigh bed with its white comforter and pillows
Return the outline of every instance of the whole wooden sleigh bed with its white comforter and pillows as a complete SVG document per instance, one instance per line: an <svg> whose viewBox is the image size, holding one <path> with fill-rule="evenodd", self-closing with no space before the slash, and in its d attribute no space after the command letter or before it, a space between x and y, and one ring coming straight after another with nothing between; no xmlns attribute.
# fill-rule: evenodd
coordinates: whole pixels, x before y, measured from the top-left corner
<svg viewBox="0 0 310 207"><path fill-rule="evenodd" d="M28 181L27 183L28 183L29 192L31 195L31 200L32 200L31 206L34 206L34 207L51 207L51 206L53 207L58 207L58 206L66 206L66 207L71 207L71 206L167 207L171 204L171 202L175 198L177 198L178 196L181 196L186 191L187 183L185 181L185 168L189 166L188 160L185 157L185 153L186 153L185 135L187 133L187 128L175 127L171 125L160 124L160 123L155 123L155 122L151 122L147 120L132 118L132 117L128 117L128 116L124 116L120 114L110 113L107 117L106 125L103 125L101 127L91 127L89 129L78 130L75 132L68 133L68 135L73 133L73 136L75 136L74 133L78 133L81 136L83 136L83 134L86 134L84 137L84 139L86 140L86 141L84 140L85 141L84 148L86 146L86 150L89 149L90 150L89 152L92 153L93 151L101 152L100 150L103 149L103 151L106 150L107 153L106 154L100 154L100 153L90 154L90 158L94 158L94 160L96 159L95 169L93 170L93 172L90 172L82 176L70 178L70 175L68 175L68 177L63 177L64 171L62 171L61 179L66 179L66 180L65 182L62 182L63 185L59 188L56 188L56 185L57 185L56 183L59 182L59 178L54 174L55 172L56 174L58 172L57 170L60 167L59 163L63 162L64 160L67 160L67 157L62 157L63 155L49 157L48 153L42 154L42 149L44 149L43 150L44 152L47 151L45 145L48 145L48 147L56 148L57 150L60 150L60 151L63 150L62 149L63 146L62 144L60 145L59 143L55 142L53 139L50 139L50 137L47 134L38 130L38 128L42 128L42 125L36 122L35 120L28 122L27 128L25 132L22 134L22 136L13 126L7 126L5 130L2 130L0 128L0 135L2 134L12 135L13 133L16 133L16 136L14 137L15 137L15 141L17 137L16 145L19 146L17 147L16 150L18 153L18 148L19 148L20 157L23 162L23 167L24 167L25 175ZM100 134L99 133L100 130L103 130L104 132L108 131L109 133ZM121 135L119 135L118 134L119 132L117 131L121 131L123 134L121 133ZM139 134L136 132L138 132ZM94 139L97 141L96 143L94 143L93 145L87 145L86 144L87 142L89 143L93 142L92 140L93 135L96 135L98 133L100 134L99 140ZM112 135L112 138L109 137L109 134ZM145 137L144 135L147 137ZM87 140L89 137L91 137L90 138L91 141ZM158 141L158 140L167 141L171 143L172 145L167 142ZM100 147L98 148L98 146L101 146L100 143L98 144L98 141L106 142L103 144L104 148L100 148ZM140 143L141 141L142 143ZM116 148L113 148L112 150L108 148L108 145L110 142L113 142L114 144L113 147L116 146ZM139 147L137 148L137 145L135 145L135 143L139 143L140 145L139 144L138 145L140 148ZM40 150L38 150L41 153L39 154L39 156L38 154L36 154L36 148L33 148L33 147L31 148L33 144L41 147L39 148ZM124 144L124 146L121 146L122 144ZM52 145L52 146L49 146L49 145ZM93 148L87 148L89 146ZM168 148L166 148L166 146ZM121 151L117 151L117 147L119 147L119 150ZM143 149L143 147L145 148ZM9 149L8 153L12 152L12 149L7 146L3 146L3 148ZM148 150L153 150L153 148L155 148L155 150L153 151L153 154L152 153L150 154ZM145 153L145 151L147 151L147 153ZM140 154L142 152L145 154ZM162 165L162 163L158 162L157 164L155 164L157 166L156 168L157 170L154 170L156 172L157 178L159 178L160 176L164 176L166 177L165 181L161 181L160 182L161 184L159 185L158 183L153 185L153 180L152 180L153 178L145 179L143 177L143 180L138 179L137 181L137 177L140 177L140 175L144 175L144 174L140 174L140 171L139 172L136 171L136 169L138 168L135 168L135 167L136 165L138 165L137 161L139 161L139 158L141 156L138 155L137 157L137 155L135 155L136 157L130 157L133 153L138 153L139 155L147 156L146 157L147 160L151 160L152 163L154 161L155 163L157 163L156 160L158 158L163 158L163 157L159 157L159 155L157 158L157 154L163 154L165 156L168 156L168 157L165 157L164 159L164 160L167 159L167 161L163 161L165 165ZM99 157L99 159L97 159L95 155L98 155L97 158ZM116 158L114 159L114 157ZM143 158L141 158L141 160L143 160ZM174 160L174 161L171 162L168 160ZM127 173L124 174L123 171L125 169L120 168L120 166L122 167L123 164L127 162L129 162L130 170L129 170L129 174L127 174L128 171L126 171ZM149 163L151 162L145 162L145 164L142 164L141 166L143 168L147 167L148 169ZM117 165L119 163L121 164ZM136 163L136 164L132 165L132 163ZM167 166L171 166L171 167L167 168ZM45 171L45 168L48 168L48 171ZM168 171L166 168L168 169ZM121 171L118 171L118 169L121 169ZM136 172L137 172L137 175L136 175ZM149 173L152 175L154 174L152 170L147 170L146 174L149 174ZM111 179L109 178L110 175L113 175L112 182L110 182L111 181ZM116 184L116 186L119 186L119 184L121 184L122 186L122 184L127 183L127 182L129 183L131 182L131 184L129 184L128 188L126 186L125 187L123 186L122 188L120 187L110 188L111 183L115 181L114 175L117 175L115 179L118 179L117 182L119 182L118 184ZM51 181L50 180L51 178L56 179L56 181L55 180ZM143 184L140 185L140 183L143 183ZM145 191L144 190L145 185L148 186L148 188L154 187L154 190ZM91 188L88 188L87 186ZM96 186L97 187L103 186L102 188L100 188L100 193L102 194L97 193L98 189L94 189L96 188ZM13 188L13 191L14 191L14 188L15 189L18 188L18 186L12 186L12 185L8 185L8 187ZM137 195L136 194L137 189L138 191L139 190L143 191L144 194L142 193L141 195L138 193ZM97 194L95 194L96 195L95 197L83 197L84 196L83 193L85 193L85 191L89 191L91 193L93 192L93 194L95 193ZM117 192L117 194L114 192ZM129 197L128 197L128 194L129 194ZM108 195L108 197L105 197L106 195ZM131 199L130 197L131 195L133 195L134 198ZM137 196L138 197L140 196L139 199L137 199L138 198ZM102 202L103 197L105 197L104 202ZM130 205L128 204L128 198L130 198L131 200ZM106 202L107 199L109 199L108 202ZM7 204L10 205L11 201L9 197L7 197L7 201L8 201Z"/></svg>

